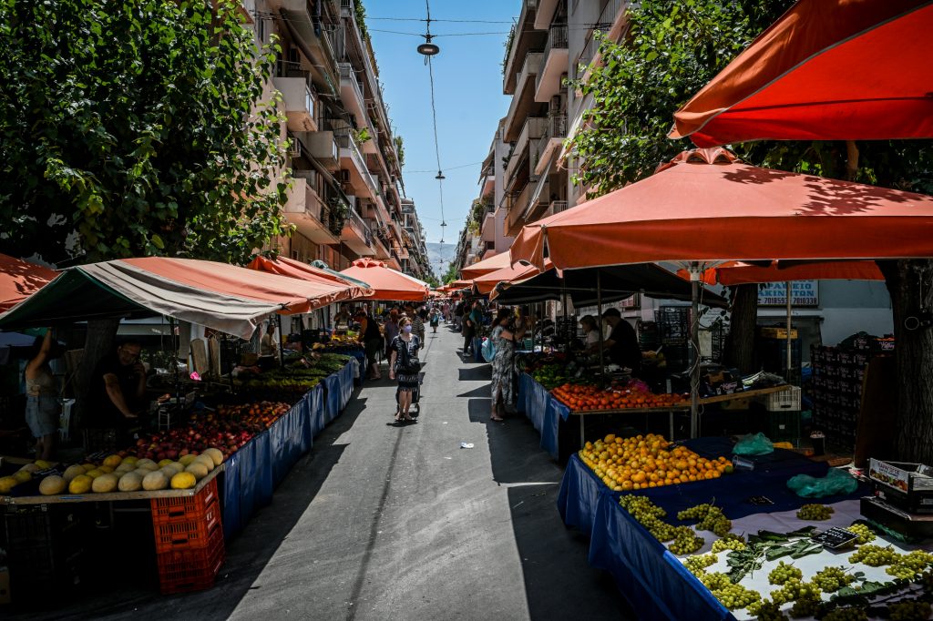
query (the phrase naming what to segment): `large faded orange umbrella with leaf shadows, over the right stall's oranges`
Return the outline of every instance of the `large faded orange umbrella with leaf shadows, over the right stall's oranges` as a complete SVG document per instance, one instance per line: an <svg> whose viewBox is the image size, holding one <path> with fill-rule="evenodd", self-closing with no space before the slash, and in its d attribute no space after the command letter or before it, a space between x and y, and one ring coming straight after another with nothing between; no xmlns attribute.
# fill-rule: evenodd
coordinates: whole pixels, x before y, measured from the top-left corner
<svg viewBox="0 0 933 621"><path fill-rule="evenodd" d="M654 261L933 256L933 197L773 171L725 149L525 225L513 261L558 269Z"/></svg>

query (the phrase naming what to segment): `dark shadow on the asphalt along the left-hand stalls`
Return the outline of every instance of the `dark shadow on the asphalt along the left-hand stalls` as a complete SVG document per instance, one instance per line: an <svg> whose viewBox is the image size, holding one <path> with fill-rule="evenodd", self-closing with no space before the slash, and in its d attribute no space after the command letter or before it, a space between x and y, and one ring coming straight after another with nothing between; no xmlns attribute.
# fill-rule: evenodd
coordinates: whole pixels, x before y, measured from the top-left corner
<svg viewBox="0 0 933 621"><path fill-rule="evenodd" d="M324 431L314 438L313 447L299 462L292 466L288 475L275 490L272 504L262 507L249 519L244 531L226 543L227 559L220 569L213 588L194 593L162 596L155 576L155 559L133 557L130 551L118 555L118 562L104 576L92 576L106 585L86 593L85 597L72 600L70 605L57 610L9 614L4 619L131 619L153 621L166 618L227 619L237 605L254 586L260 573L275 554L279 545L289 536L292 529L312 503L331 469L340 462L346 445L337 444L344 432L353 426L366 407L366 399L355 398L347 405L341 416L332 421ZM147 509L141 509L146 511ZM132 517L133 514L129 514ZM133 536L148 536L151 530L140 530L139 517L135 514ZM147 522L151 524L151 520ZM148 526L151 529L151 526ZM152 549L152 545L149 545ZM146 583L146 573L152 573ZM125 583L125 584L124 584ZM118 602L115 600L118 599Z"/></svg>

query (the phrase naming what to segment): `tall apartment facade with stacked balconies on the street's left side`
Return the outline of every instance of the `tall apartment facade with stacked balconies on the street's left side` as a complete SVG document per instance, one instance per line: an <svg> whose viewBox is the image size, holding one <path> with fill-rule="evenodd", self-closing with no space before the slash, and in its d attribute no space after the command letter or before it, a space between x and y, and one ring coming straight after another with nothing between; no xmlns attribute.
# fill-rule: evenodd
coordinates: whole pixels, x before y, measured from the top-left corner
<svg viewBox="0 0 933 621"><path fill-rule="evenodd" d="M404 198L397 140L358 2L244 1L258 40L275 34L281 47L270 89L282 93L287 117L294 179L284 211L295 232L279 248L334 269L369 256L425 278L425 238L414 203Z"/></svg>

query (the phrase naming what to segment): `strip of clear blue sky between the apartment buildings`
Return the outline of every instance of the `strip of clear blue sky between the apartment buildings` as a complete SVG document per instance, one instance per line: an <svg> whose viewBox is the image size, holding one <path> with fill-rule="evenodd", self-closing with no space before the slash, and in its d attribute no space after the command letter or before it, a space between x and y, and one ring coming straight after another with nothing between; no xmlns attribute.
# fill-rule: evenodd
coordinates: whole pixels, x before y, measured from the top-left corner
<svg viewBox="0 0 933 621"><path fill-rule="evenodd" d="M489 153L499 119L508 112L501 62L508 29L518 19L522 0L428 1L432 20L481 21L431 23L431 34L438 35L433 42L440 48L431 62L440 166L446 177L442 214L446 228L440 227L430 77L425 57L416 49L425 41L415 35L425 33L425 21L415 21L425 19L425 0L364 0L363 6L379 64L383 101L395 133L405 141L402 179L406 194L414 200L427 241L443 240L443 256L449 259L470 203L479 196L480 162ZM458 33L468 35L452 36ZM437 267L432 265L435 272Z"/></svg>

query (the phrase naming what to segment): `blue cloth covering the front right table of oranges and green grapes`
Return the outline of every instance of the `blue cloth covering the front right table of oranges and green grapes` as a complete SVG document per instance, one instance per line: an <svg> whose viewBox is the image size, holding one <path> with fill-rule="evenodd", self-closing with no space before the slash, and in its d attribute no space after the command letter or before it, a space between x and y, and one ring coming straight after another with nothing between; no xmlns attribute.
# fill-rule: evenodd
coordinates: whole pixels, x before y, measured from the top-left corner
<svg viewBox="0 0 933 621"><path fill-rule="evenodd" d="M725 438L697 438L684 444L701 456L731 453L731 445ZM736 531L739 525L735 520L761 513L762 507L749 504L745 499L751 496L770 498L774 504L768 505L768 513L796 510L813 501L801 499L788 490L787 478L797 474L823 476L828 469L825 463L811 462L782 449L753 460L756 465L752 471L634 493L648 496L667 510L668 516L715 499L717 506L733 520L733 531ZM866 487L860 487L853 494L824 498L819 502L839 503L866 492ZM620 592L643 618L734 619L665 545L620 506L619 498L623 493L628 492L609 490L578 456L567 463L557 500L558 510L565 525L576 526L590 536L590 564L612 574ZM707 537L705 549L711 539L712 535Z"/></svg>

